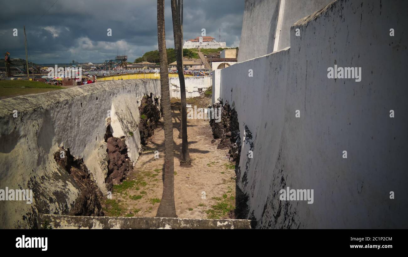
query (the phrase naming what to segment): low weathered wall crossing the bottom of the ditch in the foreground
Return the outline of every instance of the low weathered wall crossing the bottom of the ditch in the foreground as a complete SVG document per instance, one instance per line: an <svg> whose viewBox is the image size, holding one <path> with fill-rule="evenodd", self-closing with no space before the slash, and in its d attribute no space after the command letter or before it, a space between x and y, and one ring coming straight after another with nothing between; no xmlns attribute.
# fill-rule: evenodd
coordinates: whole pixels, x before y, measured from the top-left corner
<svg viewBox="0 0 408 257"><path fill-rule="evenodd" d="M55 229L251 229L251 220L156 217L85 217L40 215L40 224Z"/></svg>

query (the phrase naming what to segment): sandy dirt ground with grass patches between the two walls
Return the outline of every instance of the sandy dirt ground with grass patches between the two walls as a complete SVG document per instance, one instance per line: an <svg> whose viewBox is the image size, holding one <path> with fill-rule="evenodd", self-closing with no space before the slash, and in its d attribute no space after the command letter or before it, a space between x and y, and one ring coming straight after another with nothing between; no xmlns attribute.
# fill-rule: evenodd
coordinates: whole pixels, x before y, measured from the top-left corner
<svg viewBox="0 0 408 257"><path fill-rule="evenodd" d="M180 100L172 99L175 142L174 196L179 218L228 218L235 209L235 163L225 159L227 150L211 143L213 136L208 120L187 120L192 166L180 167L182 140ZM200 107L210 105L209 98L193 98L187 103ZM155 151L159 159L155 159ZM128 178L114 185L112 199L106 199L106 216L153 217L162 197L164 164L164 131L160 120L155 134L140 155Z"/></svg>

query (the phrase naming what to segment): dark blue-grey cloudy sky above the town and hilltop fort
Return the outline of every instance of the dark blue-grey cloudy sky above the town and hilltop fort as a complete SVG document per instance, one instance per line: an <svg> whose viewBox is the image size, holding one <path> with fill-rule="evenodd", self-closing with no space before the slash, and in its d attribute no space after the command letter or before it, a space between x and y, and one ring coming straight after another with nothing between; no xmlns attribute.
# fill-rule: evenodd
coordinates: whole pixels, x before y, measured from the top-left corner
<svg viewBox="0 0 408 257"><path fill-rule="evenodd" d="M0 50L34 63L103 62L116 54L128 61L157 50L155 0L0 0ZM54 4L54 5L53 5ZM52 6L53 5L53 6ZM51 7L52 6L52 7ZM51 7L51 9L49 9ZM47 10L49 11L45 13ZM45 13L45 14L44 14ZM239 46L244 0L184 0L184 39L206 35ZM42 16L44 14L44 16ZM41 17L42 16L42 17ZM166 0L166 44L174 47L170 0ZM13 36L17 28L18 36ZM107 36L107 29L112 36Z"/></svg>

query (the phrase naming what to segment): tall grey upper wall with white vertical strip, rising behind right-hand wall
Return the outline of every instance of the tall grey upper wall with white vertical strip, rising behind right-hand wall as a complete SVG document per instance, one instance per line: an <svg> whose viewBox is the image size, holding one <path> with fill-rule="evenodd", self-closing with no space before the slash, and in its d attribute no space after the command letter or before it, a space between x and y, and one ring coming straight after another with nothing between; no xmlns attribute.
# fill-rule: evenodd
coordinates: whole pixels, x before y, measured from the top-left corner
<svg viewBox="0 0 408 257"><path fill-rule="evenodd" d="M290 26L332 1L245 0L238 61L260 57L290 46ZM278 19L281 20L280 23ZM274 50L275 44L277 49Z"/></svg>

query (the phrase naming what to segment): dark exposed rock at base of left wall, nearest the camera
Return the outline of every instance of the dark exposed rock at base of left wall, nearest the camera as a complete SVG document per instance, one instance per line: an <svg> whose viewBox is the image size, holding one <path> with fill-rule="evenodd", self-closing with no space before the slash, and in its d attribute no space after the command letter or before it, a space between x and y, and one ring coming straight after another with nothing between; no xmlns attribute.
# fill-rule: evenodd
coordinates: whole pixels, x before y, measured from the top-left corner
<svg viewBox="0 0 408 257"><path fill-rule="evenodd" d="M61 157L61 151L64 151L63 157ZM73 157L70 150L65 150L64 148L60 148L60 151L54 153L54 159L70 174L80 189L80 194L75 199L74 206L68 215L104 216L100 203L102 192L91 178L91 173L86 168L84 160Z"/></svg>

